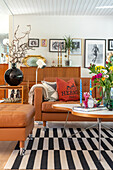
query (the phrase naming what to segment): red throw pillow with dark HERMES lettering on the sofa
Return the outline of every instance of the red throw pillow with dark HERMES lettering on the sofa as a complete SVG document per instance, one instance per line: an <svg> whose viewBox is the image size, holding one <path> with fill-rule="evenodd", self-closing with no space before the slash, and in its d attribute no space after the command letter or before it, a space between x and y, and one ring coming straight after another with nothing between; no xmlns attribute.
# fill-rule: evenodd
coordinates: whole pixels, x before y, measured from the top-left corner
<svg viewBox="0 0 113 170"><path fill-rule="evenodd" d="M74 79L65 82L64 80L57 78L57 91L59 100L79 100L78 90Z"/></svg>

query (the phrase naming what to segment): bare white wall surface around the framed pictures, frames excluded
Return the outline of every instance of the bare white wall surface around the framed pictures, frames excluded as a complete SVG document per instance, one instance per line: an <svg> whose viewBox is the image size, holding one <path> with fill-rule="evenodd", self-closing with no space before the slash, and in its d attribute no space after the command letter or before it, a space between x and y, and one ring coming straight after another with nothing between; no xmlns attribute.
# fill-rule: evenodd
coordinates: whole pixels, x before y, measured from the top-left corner
<svg viewBox="0 0 113 170"><path fill-rule="evenodd" d="M14 30L20 25L20 32L26 31L26 25L31 25L30 38L47 39L47 47L35 48L28 54L42 55L47 59L47 65L55 60L57 64L57 53L49 52L49 39L63 38L65 35L72 38L82 39L113 39L113 17L108 16L37 16L17 15L14 16ZM13 32L13 17L10 17L10 38ZM84 52L84 49L83 49ZM71 56L73 66L81 66L82 76L89 76L88 69L84 67L84 54L82 56ZM63 58L64 61L64 58ZM64 65L64 63L63 63Z"/></svg>

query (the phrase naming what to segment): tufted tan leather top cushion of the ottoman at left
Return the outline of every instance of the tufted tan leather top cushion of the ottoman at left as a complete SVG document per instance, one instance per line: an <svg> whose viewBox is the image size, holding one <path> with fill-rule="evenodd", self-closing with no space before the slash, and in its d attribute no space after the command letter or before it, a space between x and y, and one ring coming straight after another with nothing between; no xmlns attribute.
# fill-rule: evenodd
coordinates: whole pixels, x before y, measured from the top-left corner
<svg viewBox="0 0 113 170"><path fill-rule="evenodd" d="M29 104L1 104L0 127L26 127L34 114L34 106Z"/></svg>

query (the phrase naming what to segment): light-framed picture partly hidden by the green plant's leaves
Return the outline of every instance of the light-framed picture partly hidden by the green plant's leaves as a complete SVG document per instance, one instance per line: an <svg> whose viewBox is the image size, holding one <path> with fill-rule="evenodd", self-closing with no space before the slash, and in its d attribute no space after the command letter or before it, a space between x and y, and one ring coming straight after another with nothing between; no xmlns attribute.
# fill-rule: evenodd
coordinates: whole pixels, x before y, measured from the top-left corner
<svg viewBox="0 0 113 170"><path fill-rule="evenodd" d="M82 39L73 38L73 49L71 50L71 55L82 55Z"/></svg>

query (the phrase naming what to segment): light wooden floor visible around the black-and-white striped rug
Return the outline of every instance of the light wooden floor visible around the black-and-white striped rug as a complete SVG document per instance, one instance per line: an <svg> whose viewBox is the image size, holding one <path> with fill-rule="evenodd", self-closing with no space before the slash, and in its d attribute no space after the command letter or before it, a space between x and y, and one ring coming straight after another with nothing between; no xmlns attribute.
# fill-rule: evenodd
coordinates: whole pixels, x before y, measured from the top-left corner
<svg viewBox="0 0 113 170"><path fill-rule="evenodd" d="M105 125L112 127L113 128L113 123L104 123ZM67 127L79 127L79 128L86 128L88 126L92 125L92 122L84 122L84 123L79 123L79 122L69 122L67 124ZM59 122L50 122L47 125L48 127L63 127L64 123L59 123ZM37 127L42 127L42 125L38 125L35 123L35 128ZM12 141L0 141L0 170L4 170L4 166L15 148L17 142L12 142Z"/></svg>

